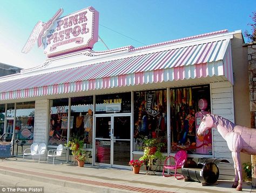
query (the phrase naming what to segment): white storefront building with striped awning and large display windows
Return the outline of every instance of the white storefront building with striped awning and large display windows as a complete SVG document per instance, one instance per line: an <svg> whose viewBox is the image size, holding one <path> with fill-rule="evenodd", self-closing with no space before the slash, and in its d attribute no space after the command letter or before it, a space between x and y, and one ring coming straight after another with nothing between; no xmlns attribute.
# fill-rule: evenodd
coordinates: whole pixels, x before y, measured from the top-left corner
<svg viewBox="0 0 256 193"><path fill-rule="evenodd" d="M87 9L92 12L87 19L97 25L97 12ZM78 21L84 17L77 15ZM0 109L5 132L14 133L14 154L21 155L21 143L45 142L53 148L77 137L91 151L88 163L126 168L131 158L143 155L143 139L156 138L164 143L163 155L185 149L190 157L233 162L215 129L201 138L195 134L201 114L209 112L238 125L250 124L241 31L138 48L98 52L88 44L59 51L57 36L65 21L57 20L59 32L46 36L52 47L45 50L49 58L44 65L0 78ZM90 25L83 22L80 28L75 22L73 34L86 33ZM98 38L96 28L89 30L91 39Z"/></svg>

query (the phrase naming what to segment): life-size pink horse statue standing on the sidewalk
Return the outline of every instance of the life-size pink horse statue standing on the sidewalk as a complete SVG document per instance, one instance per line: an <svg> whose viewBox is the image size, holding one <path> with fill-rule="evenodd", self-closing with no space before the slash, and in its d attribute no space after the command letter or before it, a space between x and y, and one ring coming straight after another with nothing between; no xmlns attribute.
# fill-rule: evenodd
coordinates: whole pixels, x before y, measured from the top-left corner
<svg viewBox="0 0 256 193"><path fill-rule="evenodd" d="M207 114L201 121L197 135L203 135L207 129L215 128L227 141L228 148L232 151L235 178L232 188L242 190L242 174L240 151L245 154L256 154L256 129L251 129L222 118L218 115Z"/></svg>

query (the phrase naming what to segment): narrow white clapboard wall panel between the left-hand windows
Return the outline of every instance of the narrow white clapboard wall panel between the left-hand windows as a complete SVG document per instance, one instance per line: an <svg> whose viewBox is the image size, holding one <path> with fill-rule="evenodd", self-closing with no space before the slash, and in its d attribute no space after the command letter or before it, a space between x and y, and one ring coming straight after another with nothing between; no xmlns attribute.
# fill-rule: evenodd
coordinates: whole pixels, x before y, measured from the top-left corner
<svg viewBox="0 0 256 193"><path fill-rule="evenodd" d="M36 100L34 141L46 143L48 100Z"/></svg>

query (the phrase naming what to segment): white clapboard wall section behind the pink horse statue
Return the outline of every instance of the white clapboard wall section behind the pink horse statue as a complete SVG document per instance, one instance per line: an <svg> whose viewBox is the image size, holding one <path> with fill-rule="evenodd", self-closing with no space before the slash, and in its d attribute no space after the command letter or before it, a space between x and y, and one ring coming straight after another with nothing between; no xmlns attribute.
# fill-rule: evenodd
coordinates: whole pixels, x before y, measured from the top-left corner
<svg viewBox="0 0 256 193"><path fill-rule="evenodd" d="M230 82L215 82L211 84L211 112L234 122L233 87ZM233 180L234 167L231 151L227 142L213 129L213 155L215 158L228 160L230 163L220 163L220 180Z"/></svg>

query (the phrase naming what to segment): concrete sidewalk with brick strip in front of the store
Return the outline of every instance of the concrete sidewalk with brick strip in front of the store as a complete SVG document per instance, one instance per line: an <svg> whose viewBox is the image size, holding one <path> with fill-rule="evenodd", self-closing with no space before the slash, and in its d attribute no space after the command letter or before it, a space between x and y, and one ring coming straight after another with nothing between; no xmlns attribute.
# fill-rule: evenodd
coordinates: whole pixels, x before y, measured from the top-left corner
<svg viewBox="0 0 256 193"><path fill-rule="evenodd" d="M15 176L21 180L52 184L52 187L58 185L77 189L79 192L237 192L231 188L232 181L218 181L216 185L202 186L199 182L184 182L174 177L163 177L161 174L146 175L144 171L133 174L132 171L124 169L89 165L80 168L71 163L53 165L44 161L23 161L19 157L0 161L0 174L10 179L10 176ZM242 191L256 192L256 189L244 182Z"/></svg>

